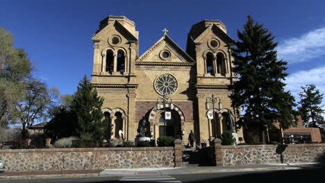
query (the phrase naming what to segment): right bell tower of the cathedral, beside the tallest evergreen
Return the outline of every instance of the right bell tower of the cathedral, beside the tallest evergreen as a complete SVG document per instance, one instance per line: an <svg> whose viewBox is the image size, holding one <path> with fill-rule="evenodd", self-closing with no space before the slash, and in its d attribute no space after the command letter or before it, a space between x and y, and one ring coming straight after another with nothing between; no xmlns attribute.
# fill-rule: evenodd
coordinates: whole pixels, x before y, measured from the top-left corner
<svg viewBox="0 0 325 183"><path fill-rule="evenodd" d="M203 20L194 24L188 33L187 52L197 64L197 104L200 139L208 141L212 137L220 137L226 130L222 115L224 112L234 111L231 107L228 87L235 76L231 72L232 57L231 47L233 39L226 33L226 26L219 20ZM215 106L222 105L224 108L208 108L208 98L216 98ZM209 119L207 114L210 110L218 114L215 119Z"/></svg>

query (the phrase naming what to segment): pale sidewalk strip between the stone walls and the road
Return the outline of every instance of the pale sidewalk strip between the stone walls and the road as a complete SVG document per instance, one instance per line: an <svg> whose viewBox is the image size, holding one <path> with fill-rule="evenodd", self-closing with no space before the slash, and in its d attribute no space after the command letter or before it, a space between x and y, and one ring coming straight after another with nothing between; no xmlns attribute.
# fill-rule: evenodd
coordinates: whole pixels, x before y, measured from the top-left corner
<svg viewBox="0 0 325 183"><path fill-rule="evenodd" d="M314 168L317 164L260 164L245 166L194 166L179 168L117 168L98 170L74 171L33 171L33 172L4 172L1 179L35 179L55 177L113 177L130 175L177 175L194 173L226 173L249 171L288 171L301 168Z"/></svg>

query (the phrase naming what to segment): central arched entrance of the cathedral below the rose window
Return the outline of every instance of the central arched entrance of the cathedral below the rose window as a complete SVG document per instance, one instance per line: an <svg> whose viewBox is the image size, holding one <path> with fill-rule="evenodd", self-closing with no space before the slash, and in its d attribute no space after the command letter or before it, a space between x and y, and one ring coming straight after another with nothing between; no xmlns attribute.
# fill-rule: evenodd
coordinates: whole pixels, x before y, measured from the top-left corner
<svg viewBox="0 0 325 183"><path fill-rule="evenodd" d="M174 138L182 139L182 130L184 128L185 118L180 108L174 105L174 110L171 110L169 104L166 105L166 111L172 112L172 119L166 120L166 134ZM149 113L150 128L153 132L153 138L157 139L164 135L164 107L156 110L154 107Z"/></svg>

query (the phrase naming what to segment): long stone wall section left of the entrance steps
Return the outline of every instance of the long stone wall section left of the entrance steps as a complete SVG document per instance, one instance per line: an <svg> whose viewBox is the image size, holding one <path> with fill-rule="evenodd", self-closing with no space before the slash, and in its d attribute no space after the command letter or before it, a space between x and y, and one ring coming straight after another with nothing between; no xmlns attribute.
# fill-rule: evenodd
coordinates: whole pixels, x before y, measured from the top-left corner
<svg viewBox="0 0 325 183"><path fill-rule="evenodd" d="M6 171L174 167L174 147L0 150Z"/></svg>

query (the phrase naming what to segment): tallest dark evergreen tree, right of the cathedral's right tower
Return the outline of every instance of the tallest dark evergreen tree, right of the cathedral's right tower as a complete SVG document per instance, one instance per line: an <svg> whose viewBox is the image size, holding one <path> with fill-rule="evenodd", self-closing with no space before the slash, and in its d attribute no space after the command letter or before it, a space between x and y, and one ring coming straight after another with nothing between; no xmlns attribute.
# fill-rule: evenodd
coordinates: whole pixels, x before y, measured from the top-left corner
<svg viewBox="0 0 325 183"><path fill-rule="evenodd" d="M277 59L274 36L249 16L244 30L238 30L238 38L233 49L238 81L233 83L231 99L233 107L244 111L239 125L262 132L279 121L282 128L289 128L294 97L283 89L287 62Z"/></svg>

